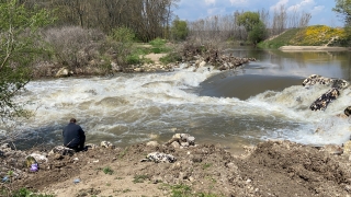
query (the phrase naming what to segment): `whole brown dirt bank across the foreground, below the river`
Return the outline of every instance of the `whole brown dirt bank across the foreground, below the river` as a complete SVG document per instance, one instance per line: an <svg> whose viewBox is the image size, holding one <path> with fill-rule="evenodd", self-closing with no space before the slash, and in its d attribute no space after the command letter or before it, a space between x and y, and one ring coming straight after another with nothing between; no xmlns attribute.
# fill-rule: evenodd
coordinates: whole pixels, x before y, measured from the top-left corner
<svg viewBox="0 0 351 197"><path fill-rule="evenodd" d="M148 153L173 155L174 163L140 162ZM290 141L268 141L245 155L214 144L188 149L145 143L97 148L72 157L48 157L41 170L2 184L59 196L347 196L348 155ZM9 158L2 158L4 164ZM5 167L4 167L5 169Z"/></svg>

